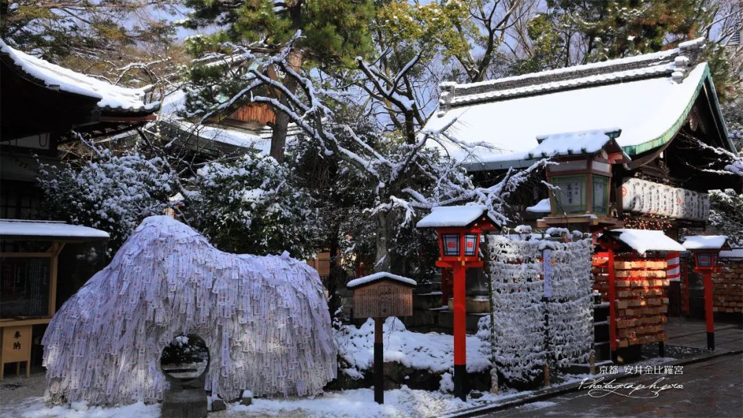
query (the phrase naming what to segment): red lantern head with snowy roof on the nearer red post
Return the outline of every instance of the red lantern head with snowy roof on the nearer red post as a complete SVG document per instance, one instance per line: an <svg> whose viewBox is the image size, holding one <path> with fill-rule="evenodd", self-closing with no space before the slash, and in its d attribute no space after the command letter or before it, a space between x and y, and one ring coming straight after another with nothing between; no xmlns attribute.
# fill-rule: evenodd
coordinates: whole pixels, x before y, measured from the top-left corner
<svg viewBox="0 0 743 418"><path fill-rule="evenodd" d="M479 261L482 231L496 228L487 206L439 206L418 221L418 228L435 228L438 233L439 261Z"/></svg>

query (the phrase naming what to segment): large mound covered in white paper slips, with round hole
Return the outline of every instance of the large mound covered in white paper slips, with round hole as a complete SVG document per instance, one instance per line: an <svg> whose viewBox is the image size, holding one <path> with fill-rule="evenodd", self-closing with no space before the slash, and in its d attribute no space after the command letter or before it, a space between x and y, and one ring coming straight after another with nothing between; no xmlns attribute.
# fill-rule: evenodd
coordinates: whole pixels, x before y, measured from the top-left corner
<svg viewBox="0 0 743 418"><path fill-rule="evenodd" d="M156 402L160 353L203 337L204 389L222 399L314 395L335 378L336 347L317 272L301 261L221 252L172 218L146 218L111 264L53 317L48 396L91 405Z"/></svg>

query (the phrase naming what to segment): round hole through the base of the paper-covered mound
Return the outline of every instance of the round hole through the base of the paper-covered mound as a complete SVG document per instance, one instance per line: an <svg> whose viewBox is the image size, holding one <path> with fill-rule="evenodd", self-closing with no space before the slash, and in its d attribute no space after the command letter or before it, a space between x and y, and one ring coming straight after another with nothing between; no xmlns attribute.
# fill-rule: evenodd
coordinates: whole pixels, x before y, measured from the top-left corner
<svg viewBox="0 0 743 418"><path fill-rule="evenodd" d="M209 348L200 336L177 336L163 348L160 369L167 376L186 382L198 379L209 368Z"/></svg>

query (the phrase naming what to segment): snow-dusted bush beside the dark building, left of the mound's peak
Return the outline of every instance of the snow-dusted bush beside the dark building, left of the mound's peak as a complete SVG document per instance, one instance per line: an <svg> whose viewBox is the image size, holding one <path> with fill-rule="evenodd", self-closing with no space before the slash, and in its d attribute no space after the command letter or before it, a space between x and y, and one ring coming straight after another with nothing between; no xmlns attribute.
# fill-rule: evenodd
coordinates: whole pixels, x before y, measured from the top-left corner
<svg viewBox="0 0 743 418"><path fill-rule="evenodd" d="M45 212L61 221L103 229L111 235L108 246L113 251L137 223L163 214L168 197L175 194L174 180L158 157L136 152L114 155L107 149L79 166L63 163L39 169Z"/></svg>

